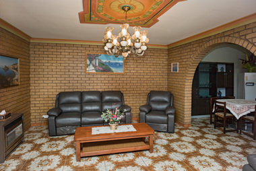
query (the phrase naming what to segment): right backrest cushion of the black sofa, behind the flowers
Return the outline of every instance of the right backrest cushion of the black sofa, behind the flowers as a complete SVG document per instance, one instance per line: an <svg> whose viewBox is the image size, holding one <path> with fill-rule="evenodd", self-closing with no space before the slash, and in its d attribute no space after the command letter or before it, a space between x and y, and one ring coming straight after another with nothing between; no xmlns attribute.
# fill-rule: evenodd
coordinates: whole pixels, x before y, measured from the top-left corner
<svg viewBox="0 0 256 171"><path fill-rule="evenodd" d="M125 104L123 93L120 91L101 92L102 111L114 109Z"/></svg>

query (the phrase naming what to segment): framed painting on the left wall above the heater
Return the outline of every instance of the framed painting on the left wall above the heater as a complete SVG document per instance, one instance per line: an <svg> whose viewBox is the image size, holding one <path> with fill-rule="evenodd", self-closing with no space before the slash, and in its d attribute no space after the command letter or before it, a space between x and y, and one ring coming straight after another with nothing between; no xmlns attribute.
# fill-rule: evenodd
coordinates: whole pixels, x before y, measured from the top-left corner
<svg viewBox="0 0 256 171"><path fill-rule="evenodd" d="M19 59L0 55L0 88L20 84Z"/></svg>

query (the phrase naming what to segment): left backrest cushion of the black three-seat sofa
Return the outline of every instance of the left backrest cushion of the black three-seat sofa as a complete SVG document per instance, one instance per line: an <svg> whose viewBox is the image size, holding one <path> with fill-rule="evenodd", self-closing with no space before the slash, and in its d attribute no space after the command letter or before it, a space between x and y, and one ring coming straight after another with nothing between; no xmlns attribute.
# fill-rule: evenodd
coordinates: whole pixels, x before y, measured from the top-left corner
<svg viewBox="0 0 256 171"><path fill-rule="evenodd" d="M81 112L81 92L60 92L57 96L56 106L62 112Z"/></svg>

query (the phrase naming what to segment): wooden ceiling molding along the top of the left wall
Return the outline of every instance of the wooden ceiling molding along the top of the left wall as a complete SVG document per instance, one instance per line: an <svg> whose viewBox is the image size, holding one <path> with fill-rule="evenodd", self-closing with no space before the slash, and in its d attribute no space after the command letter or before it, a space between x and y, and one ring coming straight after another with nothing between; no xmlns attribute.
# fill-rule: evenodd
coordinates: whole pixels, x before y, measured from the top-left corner
<svg viewBox="0 0 256 171"><path fill-rule="evenodd" d="M5 20L0 18L0 27L15 34L16 36L19 36L20 38L23 38L24 40L27 40L28 42L30 41L30 36L28 36L28 34L22 32L21 30L19 30L18 28L15 28L14 26L12 26L11 24L5 22Z"/></svg>

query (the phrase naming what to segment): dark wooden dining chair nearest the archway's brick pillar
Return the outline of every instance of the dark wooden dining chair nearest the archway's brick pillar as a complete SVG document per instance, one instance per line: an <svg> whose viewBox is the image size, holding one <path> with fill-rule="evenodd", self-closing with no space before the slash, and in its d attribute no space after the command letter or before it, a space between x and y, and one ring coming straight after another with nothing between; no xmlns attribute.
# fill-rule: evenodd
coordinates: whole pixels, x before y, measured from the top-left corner
<svg viewBox="0 0 256 171"><path fill-rule="evenodd" d="M222 109L220 111L219 109ZM221 118L222 123L217 123ZM228 129L226 130L226 127L228 127L228 120L233 119L236 121L236 129ZM238 121L234 117L232 113L229 112L229 110L226 109L226 102L217 102L215 101L214 104L214 129L216 127L223 127L223 133L230 132L230 131L236 131L238 133Z"/></svg>

